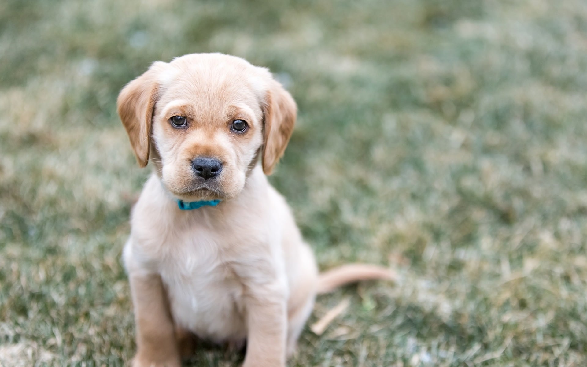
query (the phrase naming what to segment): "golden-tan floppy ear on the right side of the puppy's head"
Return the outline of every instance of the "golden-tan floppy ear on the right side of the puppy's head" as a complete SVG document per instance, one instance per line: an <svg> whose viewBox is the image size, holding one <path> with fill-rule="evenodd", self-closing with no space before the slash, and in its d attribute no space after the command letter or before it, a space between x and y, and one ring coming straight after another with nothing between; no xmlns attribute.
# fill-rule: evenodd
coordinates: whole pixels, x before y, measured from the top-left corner
<svg viewBox="0 0 587 367"><path fill-rule="evenodd" d="M274 79L269 83L265 97L263 171L271 174L275 164L284 154L289 137L294 131L297 106L294 98Z"/></svg>

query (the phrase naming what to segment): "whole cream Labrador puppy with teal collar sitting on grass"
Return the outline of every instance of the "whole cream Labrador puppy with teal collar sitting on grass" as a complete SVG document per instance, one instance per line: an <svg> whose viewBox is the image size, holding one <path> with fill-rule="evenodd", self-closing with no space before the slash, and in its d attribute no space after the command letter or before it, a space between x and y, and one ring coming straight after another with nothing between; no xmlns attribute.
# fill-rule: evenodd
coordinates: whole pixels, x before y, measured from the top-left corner
<svg viewBox="0 0 587 367"><path fill-rule="evenodd" d="M318 274L265 177L296 120L268 69L218 53L155 62L120 92L118 113L139 165L154 167L123 253L133 366L180 366L188 334L246 341L245 367L285 366L318 292L391 277L359 264Z"/></svg>

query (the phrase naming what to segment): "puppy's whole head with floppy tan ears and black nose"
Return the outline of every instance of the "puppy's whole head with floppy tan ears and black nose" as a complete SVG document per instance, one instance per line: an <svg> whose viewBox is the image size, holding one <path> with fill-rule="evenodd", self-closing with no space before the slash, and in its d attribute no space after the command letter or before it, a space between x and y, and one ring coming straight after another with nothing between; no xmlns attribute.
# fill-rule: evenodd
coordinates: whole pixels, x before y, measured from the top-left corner
<svg viewBox="0 0 587 367"><path fill-rule="evenodd" d="M182 200L211 200L237 196L259 156L271 173L296 105L267 69L201 53L153 63L120 92L118 113L141 167L151 161Z"/></svg>

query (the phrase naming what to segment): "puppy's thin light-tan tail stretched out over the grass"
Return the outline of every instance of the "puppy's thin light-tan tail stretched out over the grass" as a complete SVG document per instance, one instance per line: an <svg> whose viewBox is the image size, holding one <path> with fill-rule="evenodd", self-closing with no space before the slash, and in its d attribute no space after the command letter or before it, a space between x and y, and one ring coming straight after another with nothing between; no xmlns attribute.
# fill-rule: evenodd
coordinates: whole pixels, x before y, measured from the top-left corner
<svg viewBox="0 0 587 367"><path fill-rule="evenodd" d="M318 277L318 294L332 292L341 285L360 280L395 280L393 270L368 264L348 264L323 272Z"/></svg>

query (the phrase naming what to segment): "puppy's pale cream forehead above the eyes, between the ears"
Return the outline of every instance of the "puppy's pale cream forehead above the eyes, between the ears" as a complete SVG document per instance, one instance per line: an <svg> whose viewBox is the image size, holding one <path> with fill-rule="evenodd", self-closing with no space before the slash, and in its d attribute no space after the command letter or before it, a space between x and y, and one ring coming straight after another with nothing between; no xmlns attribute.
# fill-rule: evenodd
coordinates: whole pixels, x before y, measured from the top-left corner
<svg viewBox="0 0 587 367"><path fill-rule="evenodd" d="M251 65L230 63L179 63L160 73L157 109L189 106L200 116L222 116L238 106L261 118L265 83Z"/></svg>

